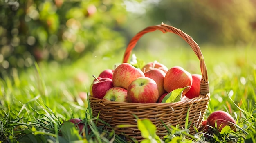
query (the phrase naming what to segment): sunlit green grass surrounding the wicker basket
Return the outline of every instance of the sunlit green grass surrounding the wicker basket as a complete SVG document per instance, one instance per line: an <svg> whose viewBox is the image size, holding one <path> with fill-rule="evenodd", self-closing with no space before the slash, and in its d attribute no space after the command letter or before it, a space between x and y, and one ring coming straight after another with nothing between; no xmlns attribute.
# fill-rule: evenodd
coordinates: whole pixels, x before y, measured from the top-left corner
<svg viewBox="0 0 256 143"><path fill-rule="evenodd" d="M256 56L254 47L247 48L202 48L207 65L211 101L207 116L215 110L224 110L236 120L238 130L230 129L215 136L212 142L256 143ZM145 52L146 51L146 52ZM134 51L144 62L157 60L168 68L182 66L190 73L200 73L199 61L190 48L164 49L161 52ZM93 53L69 65L56 62L38 63L34 67L11 70L0 79L0 141L5 142L125 142L114 132L106 134L96 127L88 110L88 102L79 97L87 92L93 77L106 68L122 61L123 51L105 57ZM92 129L78 136L72 125L61 125L71 118L84 119ZM147 121L143 126L151 127ZM153 130L153 127L151 128ZM59 130L65 136L59 135ZM146 129L141 132L146 134ZM170 128L165 142L205 142L202 134L189 135L188 130ZM146 136L145 142L159 141L155 134ZM148 140L148 139L152 140Z"/></svg>

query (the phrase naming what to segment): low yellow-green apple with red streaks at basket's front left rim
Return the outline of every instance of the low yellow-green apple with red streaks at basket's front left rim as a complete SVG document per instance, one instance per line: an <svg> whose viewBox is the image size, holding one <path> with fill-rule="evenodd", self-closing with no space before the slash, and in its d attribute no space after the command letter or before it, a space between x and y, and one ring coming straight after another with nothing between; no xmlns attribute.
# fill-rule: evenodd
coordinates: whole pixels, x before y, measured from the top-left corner
<svg viewBox="0 0 256 143"><path fill-rule="evenodd" d="M127 102L127 90L121 87L110 88L103 97L103 100Z"/></svg>

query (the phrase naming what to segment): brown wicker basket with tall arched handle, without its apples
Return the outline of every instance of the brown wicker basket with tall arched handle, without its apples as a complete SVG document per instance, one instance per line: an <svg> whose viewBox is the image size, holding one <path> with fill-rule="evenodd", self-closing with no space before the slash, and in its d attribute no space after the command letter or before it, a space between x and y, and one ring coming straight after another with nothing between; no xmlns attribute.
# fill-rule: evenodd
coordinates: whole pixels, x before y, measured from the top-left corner
<svg viewBox="0 0 256 143"><path fill-rule="evenodd" d="M209 84L207 77L207 69L204 62L204 57L198 44L186 33L172 26L166 24L149 26L146 29L140 31L132 38L126 51L124 53L123 63L128 62L131 55L131 51L136 45L140 37L148 32L160 30L163 33L171 32L182 37L193 49L195 55L197 55L200 61L200 68L202 72L202 80L200 82L200 96L185 101L179 101L176 103L124 103L124 102L111 102L104 101L89 96L90 106L92 108L92 114L99 119L108 123L110 127L106 126L106 129L111 131L115 130L115 134L123 134L137 139L137 141L143 140L141 132L137 128L137 120L134 114L139 119L150 119L157 127L157 135L160 138L164 137L164 133L168 133L162 122L167 126L175 126L179 124L180 128L185 127L186 115L189 110L189 122L192 124L189 127L190 134L195 133L193 126L199 128L202 124L202 119L207 110L209 103ZM98 121L97 125L104 125ZM119 128L118 125L128 125L127 128ZM129 139L129 137L127 138Z"/></svg>

